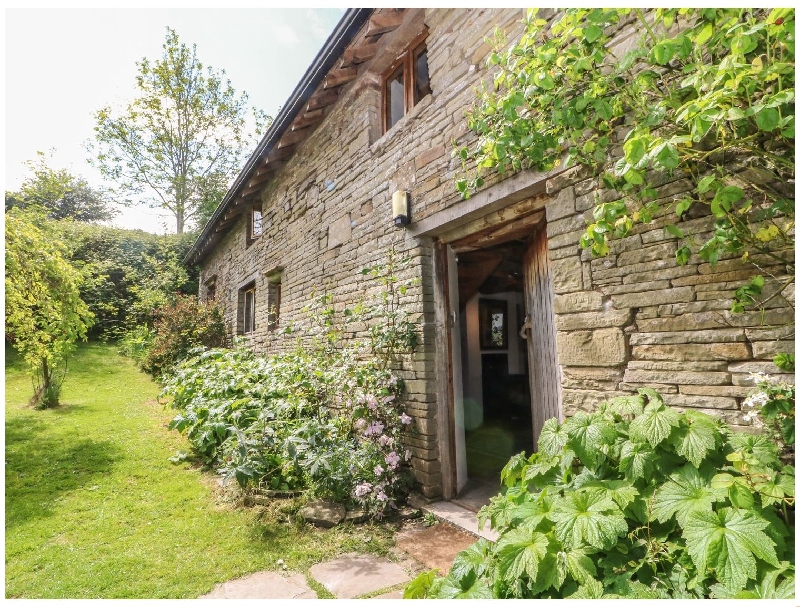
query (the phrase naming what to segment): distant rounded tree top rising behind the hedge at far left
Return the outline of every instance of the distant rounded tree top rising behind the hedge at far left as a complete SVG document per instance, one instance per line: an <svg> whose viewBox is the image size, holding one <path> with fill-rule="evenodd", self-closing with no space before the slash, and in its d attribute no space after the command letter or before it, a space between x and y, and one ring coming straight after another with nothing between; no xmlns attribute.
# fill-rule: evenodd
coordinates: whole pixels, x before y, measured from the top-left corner
<svg viewBox="0 0 800 607"><path fill-rule="evenodd" d="M72 218L76 221L109 221L117 214L104 192L89 186L83 177L66 169L48 166L44 152L37 160L25 163L31 175L18 192L6 192L6 210L13 207L39 209L49 219Z"/></svg>

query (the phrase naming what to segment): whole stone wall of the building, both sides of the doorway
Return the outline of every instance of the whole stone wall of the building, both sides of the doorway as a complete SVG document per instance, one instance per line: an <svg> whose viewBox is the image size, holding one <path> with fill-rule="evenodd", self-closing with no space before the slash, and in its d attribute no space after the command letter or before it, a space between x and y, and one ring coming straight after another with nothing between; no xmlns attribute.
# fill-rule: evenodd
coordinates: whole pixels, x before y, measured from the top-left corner
<svg viewBox="0 0 800 607"><path fill-rule="evenodd" d="M407 410L415 418L408 442L423 493L442 491L437 444L436 318L433 240L413 237L392 225L391 196L410 192L412 220L462 204L454 179L460 162L452 142L469 141L465 112L474 87L490 76L484 66L497 25L513 40L522 30L521 9L425 9L433 94L421 100L388 133L380 131L379 74L362 73L331 114L265 187L263 236L248 246L241 218L202 262L201 283L216 276L217 299L233 332L242 286L256 286L256 331L247 337L258 351L293 347L284 329L306 318L314 294L330 293L337 309L377 293L379 285L360 270L384 261L394 247L410 257L404 276L419 279L403 305L419 327L420 345L397 373L407 388ZM552 16L552 12L549 13ZM420 20L422 21L422 20ZM628 43L631 32L623 30ZM489 176L491 190L508 176ZM555 294L555 323L565 413L590 410L614 394L652 386L668 403L720 413L737 422L751 370L777 372L769 362L793 348L788 302L778 297L762 316L730 315L733 290L753 273L733 259L711 267L699 259L678 266L676 242L665 219L635 228L614 243L612 254L592 259L578 246L595 195L595 179L570 169L531 175L546 185L547 235ZM679 194L683 180L661 186L663 197ZM707 233L712 221L681 223L687 234ZM268 275L282 268L280 322L268 330ZM780 274L780 266L765 270ZM273 275L274 276L274 275ZM203 288L201 287L201 295ZM341 316L339 317L341 320ZM347 337L366 327L350 327Z"/></svg>

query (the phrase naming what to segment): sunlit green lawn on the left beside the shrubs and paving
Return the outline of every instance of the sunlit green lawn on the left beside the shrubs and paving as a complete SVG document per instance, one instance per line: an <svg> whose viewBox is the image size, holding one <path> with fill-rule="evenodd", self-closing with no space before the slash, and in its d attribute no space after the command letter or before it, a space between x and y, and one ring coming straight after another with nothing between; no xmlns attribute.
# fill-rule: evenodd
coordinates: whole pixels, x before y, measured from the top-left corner
<svg viewBox="0 0 800 607"><path fill-rule="evenodd" d="M166 429L158 391L114 347L91 344L71 359L61 405L34 410L7 351L7 598L195 598L278 559L307 573L389 552L389 526L316 529L297 522L296 501L236 508L213 476L170 463L189 448Z"/></svg>

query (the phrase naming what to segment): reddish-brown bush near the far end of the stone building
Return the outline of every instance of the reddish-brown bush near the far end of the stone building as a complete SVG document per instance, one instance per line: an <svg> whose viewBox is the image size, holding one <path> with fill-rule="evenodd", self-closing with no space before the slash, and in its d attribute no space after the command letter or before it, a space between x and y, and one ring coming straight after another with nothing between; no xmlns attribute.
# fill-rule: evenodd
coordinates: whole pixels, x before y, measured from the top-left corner
<svg viewBox="0 0 800 607"><path fill-rule="evenodd" d="M214 302L179 295L173 304L155 310L153 315L154 336L141 361L142 369L151 375L169 372L194 348L225 344L222 310Z"/></svg>

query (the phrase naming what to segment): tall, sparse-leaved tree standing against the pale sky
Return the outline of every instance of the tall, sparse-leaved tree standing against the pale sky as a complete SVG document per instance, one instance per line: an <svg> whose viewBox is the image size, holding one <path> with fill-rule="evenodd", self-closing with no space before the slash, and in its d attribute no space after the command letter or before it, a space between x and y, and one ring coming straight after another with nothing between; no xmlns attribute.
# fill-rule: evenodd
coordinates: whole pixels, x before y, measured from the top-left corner
<svg viewBox="0 0 800 607"><path fill-rule="evenodd" d="M136 63L138 97L117 115L96 112L90 160L118 190L175 216L178 234L210 216L253 147L246 128L247 94L237 95L225 71L203 69L190 49L167 28L161 59ZM268 122L253 110L256 132Z"/></svg>

